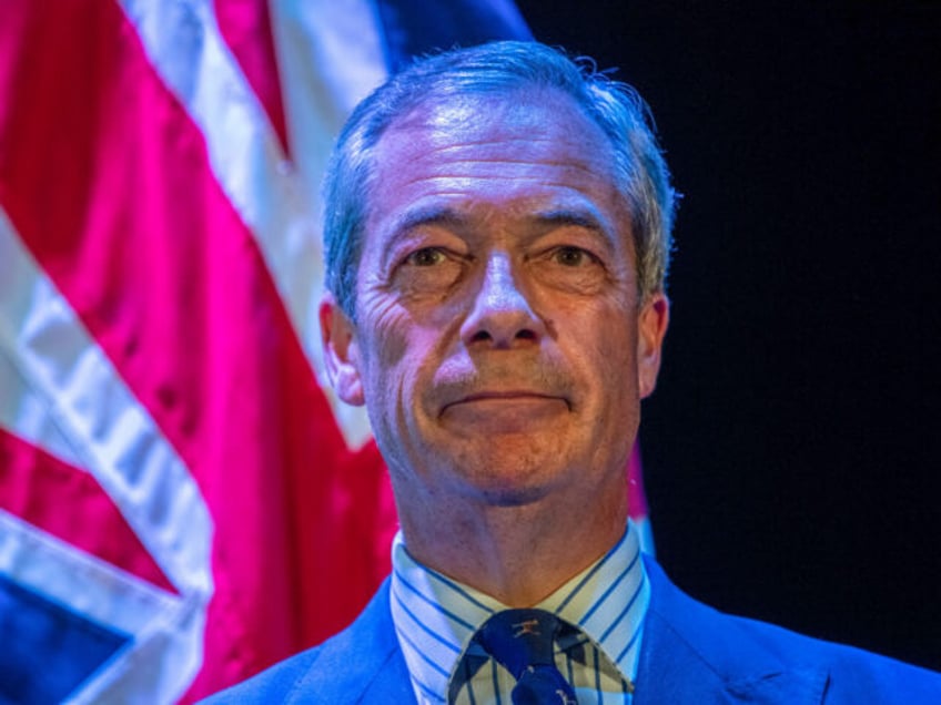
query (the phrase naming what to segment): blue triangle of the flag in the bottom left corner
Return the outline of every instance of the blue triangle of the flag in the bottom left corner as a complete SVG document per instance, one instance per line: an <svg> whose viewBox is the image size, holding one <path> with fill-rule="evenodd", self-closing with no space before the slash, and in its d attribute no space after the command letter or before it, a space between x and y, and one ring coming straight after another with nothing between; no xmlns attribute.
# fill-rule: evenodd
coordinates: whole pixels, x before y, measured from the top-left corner
<svg viewBox="0 0 941 705"><path fill-rule="evenodd" d="M60 703L129 640L0 575L0 705Z"/></svg>

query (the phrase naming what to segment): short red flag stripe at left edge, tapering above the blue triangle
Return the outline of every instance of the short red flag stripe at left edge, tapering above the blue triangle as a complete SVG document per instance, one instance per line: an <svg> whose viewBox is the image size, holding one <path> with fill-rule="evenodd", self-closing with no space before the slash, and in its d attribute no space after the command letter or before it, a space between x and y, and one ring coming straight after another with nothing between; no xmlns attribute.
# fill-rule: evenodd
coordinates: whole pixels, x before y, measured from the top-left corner
<svg viewBox="0 0 941 705"><path fill-rule="evenodd" d="M141 580L176 592L92 476L2 428L0 507Z"/></svg>

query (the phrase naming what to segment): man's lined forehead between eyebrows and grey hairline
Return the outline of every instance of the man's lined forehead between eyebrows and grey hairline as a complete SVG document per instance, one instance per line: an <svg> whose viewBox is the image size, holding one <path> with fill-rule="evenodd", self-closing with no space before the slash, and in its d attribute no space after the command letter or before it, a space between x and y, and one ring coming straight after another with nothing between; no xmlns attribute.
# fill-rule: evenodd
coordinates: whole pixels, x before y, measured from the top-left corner
<svg viewBox="0 0 941 705"><path fill-rule="evenodd" d="M436 207L588 208L619 219L610 142L554 89L422 103L386 130L373 164L367 229Z"/></svg>

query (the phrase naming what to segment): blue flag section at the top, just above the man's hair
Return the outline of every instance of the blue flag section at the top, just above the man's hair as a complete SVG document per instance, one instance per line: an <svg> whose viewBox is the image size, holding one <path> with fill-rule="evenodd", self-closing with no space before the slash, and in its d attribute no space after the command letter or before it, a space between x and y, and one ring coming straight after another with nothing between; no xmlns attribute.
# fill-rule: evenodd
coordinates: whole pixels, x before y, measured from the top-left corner
<svg viewBox="0 0 941 705"><path fill-rule="evenodd" d="M386 62L395 72L412 57L496 39L533 39L512 0L377 0Z"/></svg>

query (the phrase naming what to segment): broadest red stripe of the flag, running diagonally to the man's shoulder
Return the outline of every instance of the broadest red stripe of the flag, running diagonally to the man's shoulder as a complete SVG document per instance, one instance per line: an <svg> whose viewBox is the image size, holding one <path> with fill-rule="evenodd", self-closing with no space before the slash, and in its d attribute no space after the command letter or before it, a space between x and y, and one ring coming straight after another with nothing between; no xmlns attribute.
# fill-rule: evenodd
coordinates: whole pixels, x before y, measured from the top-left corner
<svg viewBox="0 0 941 705"><path fill-rule="evenodd" d="M355 616L388 570L388 489L374 446L347 452L134 28L110 2L45 8L7 3L0 23L0 203L210 507L199 696Z"/></svg>

